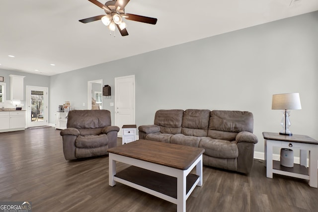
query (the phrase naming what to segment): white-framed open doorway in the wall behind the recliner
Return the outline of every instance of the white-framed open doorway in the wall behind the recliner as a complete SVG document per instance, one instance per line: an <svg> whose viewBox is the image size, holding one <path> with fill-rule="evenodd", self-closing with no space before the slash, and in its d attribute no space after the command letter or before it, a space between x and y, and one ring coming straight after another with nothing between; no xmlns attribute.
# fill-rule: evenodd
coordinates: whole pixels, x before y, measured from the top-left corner
<svg viewBox="0 0 318 212"><path fill-rule="evenodd" d="M87 82L87 110L103 109L102 91L102 79Z"/></svg>

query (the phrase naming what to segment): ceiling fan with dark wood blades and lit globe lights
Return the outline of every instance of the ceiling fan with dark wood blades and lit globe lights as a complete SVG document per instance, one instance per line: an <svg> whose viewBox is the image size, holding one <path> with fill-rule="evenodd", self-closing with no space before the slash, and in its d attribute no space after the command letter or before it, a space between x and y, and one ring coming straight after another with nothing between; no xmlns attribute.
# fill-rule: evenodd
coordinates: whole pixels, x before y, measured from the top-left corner
<svg viewBox="0 0 318 212"><path fill-rule="evenodd" d="M128 32L126 30L127 24L123 21L123 18L149 24L157 23L157 18L125 13L125 6L129 2L129 0L110 0L107 1L105 4L102 4L97 0L89 1L104 9L106 15L97 15L94 17L81 19L79 21L82 23L89 23L92 21L101 20L103 24L108 26L109 30L111 31L115 31L115 28L117 26L122 36L128 35Z"/></svg>

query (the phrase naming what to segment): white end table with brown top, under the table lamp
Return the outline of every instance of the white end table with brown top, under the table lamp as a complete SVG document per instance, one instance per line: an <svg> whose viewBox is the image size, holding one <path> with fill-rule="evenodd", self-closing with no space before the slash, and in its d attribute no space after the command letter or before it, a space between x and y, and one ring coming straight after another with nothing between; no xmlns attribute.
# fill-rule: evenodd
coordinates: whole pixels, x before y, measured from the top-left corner
<svg viewBox="0 0 318 212"><path fill-rule="evenodd" d="M318 187L318 141L303 135L283 136L278 133L263 132L265 140L266 177L273 178L273 173L309 180L311 187ZM273 160L273 147L300 150L300 164L288 168ZM307 151L309 167L307 168Z"/></svg>

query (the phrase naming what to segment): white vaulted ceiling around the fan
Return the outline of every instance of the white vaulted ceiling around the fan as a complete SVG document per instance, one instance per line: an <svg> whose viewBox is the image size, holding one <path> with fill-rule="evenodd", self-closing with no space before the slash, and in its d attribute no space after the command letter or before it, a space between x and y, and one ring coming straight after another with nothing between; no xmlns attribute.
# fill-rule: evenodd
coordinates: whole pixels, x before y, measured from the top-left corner
<svg viewBox="0 0 318 212"><path fill-rule="evenodd" d="M127 13L158 22L126 20L129 35L114 37L78 21L104 14L88 0L0 0L0 69L54 75L316 10L318 0L130 0Z"/></svg>

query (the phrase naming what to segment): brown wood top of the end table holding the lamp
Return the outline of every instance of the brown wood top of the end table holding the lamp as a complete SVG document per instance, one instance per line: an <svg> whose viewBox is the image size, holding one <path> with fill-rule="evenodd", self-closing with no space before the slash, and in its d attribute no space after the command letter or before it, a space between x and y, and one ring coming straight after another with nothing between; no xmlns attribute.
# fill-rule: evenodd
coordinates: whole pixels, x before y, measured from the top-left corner
<svg viewBox="0 0 318 212"><path fill-rule="evenodd" d="M267 140L318 144L318 141L316 141L315 139L309 136L304 136L304 135L284 136L284 135L279 135L279 133L263 132L263 137L264 139L267 139Z"/></svg>

